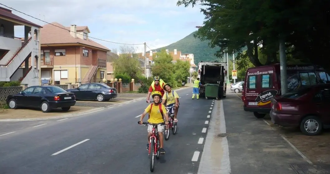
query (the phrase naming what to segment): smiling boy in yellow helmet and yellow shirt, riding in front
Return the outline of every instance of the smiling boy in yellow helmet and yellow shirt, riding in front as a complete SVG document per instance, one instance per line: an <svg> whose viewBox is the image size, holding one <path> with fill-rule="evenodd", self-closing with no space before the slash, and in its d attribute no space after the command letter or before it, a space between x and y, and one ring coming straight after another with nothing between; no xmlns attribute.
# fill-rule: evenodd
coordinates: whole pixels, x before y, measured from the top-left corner
<svg viewBox="0 0 330 174"><path fill-rule="evenodd" d="M168 115L166 112L166 108L164 105L160 103L160 99L162 98L162 94L159 91L155 91L152 93L152 98L153 102L150 104L145 111L142 113L141 118L140 118L140 124L143 123L143 118L146 116L147 113L149 113L149 119L148 122L151 124L158 124L158 123L163 123L164 118L163 115L165 116L165 124L168 125ZM165 154L165 150L163 149L163 126L162 125L157 125L157 130L158 130L158 135L159 135L159 142L160 142L160 149L159 152L161 154ZM149 150L149 140L150 136L152 134L152 125L148 125L148 143L147 143L147 150Z"/></svg>

